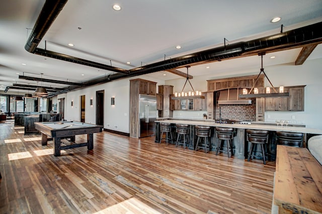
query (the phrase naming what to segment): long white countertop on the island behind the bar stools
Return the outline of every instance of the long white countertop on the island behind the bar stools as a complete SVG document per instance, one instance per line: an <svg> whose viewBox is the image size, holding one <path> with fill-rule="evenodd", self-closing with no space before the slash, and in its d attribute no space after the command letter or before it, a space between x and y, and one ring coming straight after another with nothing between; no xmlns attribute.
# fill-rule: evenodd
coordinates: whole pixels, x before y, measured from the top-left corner
<svg viewBox="0 0 322 214"><path fill-rule="evenodd" d="M286 132L298 132L298 133L310 133L310 134L322 134L321 129L294 127L294 126L272 126L272 125L258 125L258 124L219 124L213 121L194 121L194 120L158 120L159 123L180 123L188 125L202 125L202 126L219 126L219 127L231 127L242 129L257 129L257 130L269 130L269 131L286 131Z"/></svg>

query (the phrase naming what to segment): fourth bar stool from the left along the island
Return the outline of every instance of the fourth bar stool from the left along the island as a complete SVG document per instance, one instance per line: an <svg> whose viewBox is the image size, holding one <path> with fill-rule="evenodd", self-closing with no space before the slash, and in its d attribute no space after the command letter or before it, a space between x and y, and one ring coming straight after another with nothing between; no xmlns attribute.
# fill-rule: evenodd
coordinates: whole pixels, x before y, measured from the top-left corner
<svg viewBox="0 0 322 214"><path fill-rule="evenodd" d="M226 141L227 144L227 155L231 157L232 155L232 139L233 139L233 128L224 128L224 127L216 127L216 139L217 139L217 149L216 155L218 155L218 151L220 150L221 144L224 144L223 141ZM229 155L230 151L230 155Z"/></svg>

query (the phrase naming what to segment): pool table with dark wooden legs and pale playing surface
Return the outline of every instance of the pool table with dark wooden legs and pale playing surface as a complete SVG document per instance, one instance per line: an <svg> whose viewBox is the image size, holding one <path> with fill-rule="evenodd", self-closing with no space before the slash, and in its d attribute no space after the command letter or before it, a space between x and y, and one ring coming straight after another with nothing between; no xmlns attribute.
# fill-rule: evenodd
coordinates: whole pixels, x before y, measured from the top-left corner
<svg viewBox="0 0 322 214"><path fill-rule="evenodd" d="M70 149L81 146L87 146L88 150L94 148L93 133L102 132L103 126L77 122L77 121L61 121L61 122L36 122L35 128L41 132L41 145L47 145L48 137L53 139L54 155L59 156L60 150ZM86 143L74 143L75 135L87 134ZM73 142L70 145L61 145L61 138L70 138Z"/></svg>

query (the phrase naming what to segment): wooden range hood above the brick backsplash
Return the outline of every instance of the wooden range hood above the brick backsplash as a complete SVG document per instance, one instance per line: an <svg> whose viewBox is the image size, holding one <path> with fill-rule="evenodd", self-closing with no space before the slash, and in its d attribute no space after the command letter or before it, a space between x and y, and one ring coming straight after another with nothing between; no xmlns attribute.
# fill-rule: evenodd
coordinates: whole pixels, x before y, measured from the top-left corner
<svg viewBox="0 0 322 214"><path fill-rule="evenodd" d="M243 90L241 90L243 92ZM238 99L239 89L225 89L219 91L218 104L219 105L249 105L252 100Z"/></svg>

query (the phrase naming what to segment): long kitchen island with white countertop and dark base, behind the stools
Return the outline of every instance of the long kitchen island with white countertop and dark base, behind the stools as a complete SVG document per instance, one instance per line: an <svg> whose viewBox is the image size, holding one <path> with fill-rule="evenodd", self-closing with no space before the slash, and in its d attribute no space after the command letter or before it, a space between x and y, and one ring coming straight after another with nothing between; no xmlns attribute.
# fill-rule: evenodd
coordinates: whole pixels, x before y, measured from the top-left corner
<svg viewBox="0 0 322 214"><path fill-rule="evenodd" d="M188 124L189 125L189 149L194 149L197 141L197 137L195 136L195 126L210 126L211 127L211 136L210 141L212 145L212 150L215 149L216 139L215 139L215 127L230 127L234 128L234 137L233 137L233 156L239 159L245 159L248 155L249 145L246 138L246 129L256 129L256 130L268 130L269 134L269 142L267 146L268 158L270 160L275 160L276 158L276 136L275 131L285 131L285 132L296 132L296 133L304 133L304 141L305 134L322 134L321 129L314 128L306 128L306 127L294 127L294 126L272 126L272 125L259 125L259 124L220 124L216 123L213 120L157 120L155 121L155 142L159 142L160 139L160 128L159 123L171 123L173 136L176 132L176 124ZM176 139L175 139L176 140ZM260 153L258 150L256 153Z"/></svg>

